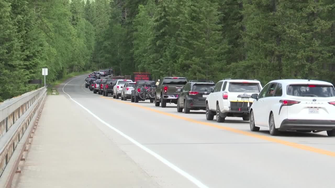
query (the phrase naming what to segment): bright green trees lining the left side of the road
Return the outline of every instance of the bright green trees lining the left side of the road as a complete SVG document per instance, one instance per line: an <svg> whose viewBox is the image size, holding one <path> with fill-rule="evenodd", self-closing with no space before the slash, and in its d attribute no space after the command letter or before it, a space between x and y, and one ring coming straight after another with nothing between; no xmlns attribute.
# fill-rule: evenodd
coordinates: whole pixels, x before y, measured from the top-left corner
<svg viewBox="0 0 335 188"><path fill-rule="evenodd" d="M28 81L43 80L44 67L47 83L96 68L95 29L87 17L94 15L83 0L0 0L0 7L2 100L37 89Z"/></svg>

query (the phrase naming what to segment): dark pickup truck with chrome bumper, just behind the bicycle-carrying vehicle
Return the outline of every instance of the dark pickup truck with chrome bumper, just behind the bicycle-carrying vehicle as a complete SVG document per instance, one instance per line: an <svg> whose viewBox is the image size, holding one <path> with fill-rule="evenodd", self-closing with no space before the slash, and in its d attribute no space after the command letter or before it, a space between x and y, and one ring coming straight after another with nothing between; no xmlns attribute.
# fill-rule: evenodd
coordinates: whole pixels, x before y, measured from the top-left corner
<svg viewBox="0 0 335 188"><path fill-rule="evenodd" d="M159 106L161 103L161 107L165 108L166 103L177 104L178 95L186 83L187 80L183 77L164 77L156 87L154 97L155 106Z"/></svg>

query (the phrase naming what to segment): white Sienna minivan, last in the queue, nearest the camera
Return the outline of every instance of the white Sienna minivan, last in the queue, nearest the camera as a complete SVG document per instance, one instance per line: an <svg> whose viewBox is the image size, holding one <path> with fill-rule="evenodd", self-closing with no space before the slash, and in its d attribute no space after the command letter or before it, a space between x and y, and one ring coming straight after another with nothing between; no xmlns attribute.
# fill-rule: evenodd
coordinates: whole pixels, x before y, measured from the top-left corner
<svg viewBox="0 0 335 188"><path fill-rule="evenodd" d="M335 90L316 80L274 80L258 94L250 108L250 129L271 135L280 131L327 131L335 136Z"/></svg>

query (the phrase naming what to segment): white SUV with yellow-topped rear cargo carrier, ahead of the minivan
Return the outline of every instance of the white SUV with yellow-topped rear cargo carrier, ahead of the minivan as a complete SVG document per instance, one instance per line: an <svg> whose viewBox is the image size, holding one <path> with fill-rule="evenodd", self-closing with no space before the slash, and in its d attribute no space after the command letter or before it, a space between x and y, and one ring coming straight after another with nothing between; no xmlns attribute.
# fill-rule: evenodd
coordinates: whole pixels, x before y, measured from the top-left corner
<svg viewBox="0 0 335 188"><path fill-rule="evenodd" d="M262 85L258 80L224 79L216 83L213 91L206 98L206 119L224 122L225 117L242 117L249 120L251 95L259 93Z"/></svg>

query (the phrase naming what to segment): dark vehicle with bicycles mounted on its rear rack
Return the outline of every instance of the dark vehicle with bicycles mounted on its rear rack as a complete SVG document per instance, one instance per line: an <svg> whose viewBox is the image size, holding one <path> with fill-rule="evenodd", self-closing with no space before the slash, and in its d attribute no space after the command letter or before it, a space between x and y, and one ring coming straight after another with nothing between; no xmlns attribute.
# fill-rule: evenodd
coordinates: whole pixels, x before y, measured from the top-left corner
<svg viewBox="0 0 335 188"><path fill-rule="evenodd" d="M150 100L154 102L155 81L139 80L135 84L135 89L131 92L131 102L138 103L139 100Z"/></svg>

